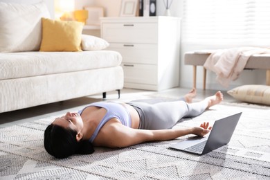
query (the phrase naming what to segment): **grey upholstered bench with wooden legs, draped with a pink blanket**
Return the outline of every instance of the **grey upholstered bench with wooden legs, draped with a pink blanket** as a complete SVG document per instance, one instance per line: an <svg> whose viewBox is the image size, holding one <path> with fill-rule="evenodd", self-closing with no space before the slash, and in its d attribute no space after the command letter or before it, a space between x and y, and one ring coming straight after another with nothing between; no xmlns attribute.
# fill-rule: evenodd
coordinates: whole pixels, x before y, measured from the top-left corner
<svg viewBox="0 0 270 180"><path fill-rule="evenodd" d="M196 88L197 66L204 66L210 53L187 52L184 57L185 65L193 66L193 87ZM264 69L266 70L266 84L270 85L270 54L256 54L249 57L244 69ZM206 69L203 71L203 89L206 89Z"/></svg>

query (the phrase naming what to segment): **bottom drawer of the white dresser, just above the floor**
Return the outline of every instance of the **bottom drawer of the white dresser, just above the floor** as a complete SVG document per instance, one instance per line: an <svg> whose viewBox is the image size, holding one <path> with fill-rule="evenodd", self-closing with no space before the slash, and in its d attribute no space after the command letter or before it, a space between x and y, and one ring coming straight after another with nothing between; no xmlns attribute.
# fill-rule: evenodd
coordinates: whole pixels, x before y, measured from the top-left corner
<svg viewBox="0 0 270 180"><path fill-rule="evenodd" d="M123 63L125 82L138 84L157 84L157 66Z"/></svg>

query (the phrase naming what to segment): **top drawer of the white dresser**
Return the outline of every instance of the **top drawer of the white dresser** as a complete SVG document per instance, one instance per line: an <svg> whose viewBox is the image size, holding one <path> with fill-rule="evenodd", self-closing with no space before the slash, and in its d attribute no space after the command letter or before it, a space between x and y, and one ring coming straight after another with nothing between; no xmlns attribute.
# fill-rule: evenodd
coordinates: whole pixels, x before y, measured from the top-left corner
<svg viewBox="0 0 270 180"><path fill-rule="evenodd" d="M105 23L102 38L110 43L157 43L158 26L155 23Z"/></svg>

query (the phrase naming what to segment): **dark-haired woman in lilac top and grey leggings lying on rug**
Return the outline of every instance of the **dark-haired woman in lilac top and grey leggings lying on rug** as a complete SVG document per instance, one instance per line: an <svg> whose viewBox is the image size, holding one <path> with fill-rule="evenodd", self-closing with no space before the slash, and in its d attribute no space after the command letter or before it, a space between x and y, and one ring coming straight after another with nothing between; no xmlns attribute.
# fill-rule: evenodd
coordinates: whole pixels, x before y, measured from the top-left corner
<svg viewBox="0 0 270 180"><path fill-rule="evenodd" d="M94 102L78 113L56 118L44 132L44 147L56 158L91 154L93 146L128 147L147 141L168 141L179 136L210 132L209 123L200 127L172 128L181 118L195 117L223 100L217 91L192 103L196 90L175 101L135 100L128 103Z"/></svg>

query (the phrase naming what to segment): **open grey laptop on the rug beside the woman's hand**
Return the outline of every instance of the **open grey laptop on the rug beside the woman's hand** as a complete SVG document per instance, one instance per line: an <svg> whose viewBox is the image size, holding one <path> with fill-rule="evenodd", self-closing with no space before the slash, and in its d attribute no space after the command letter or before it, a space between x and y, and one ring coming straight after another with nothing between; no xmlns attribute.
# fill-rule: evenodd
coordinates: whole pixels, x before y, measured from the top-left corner
<svg viewBox="0 0 270 180"><path fill-rule="evenodd" d="M216 150L228 144L231 140L241 115L242 112L216 120L209 136L188 138L185 141L171 145L170 148L199 155Z"/></svg>

